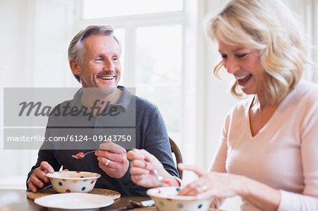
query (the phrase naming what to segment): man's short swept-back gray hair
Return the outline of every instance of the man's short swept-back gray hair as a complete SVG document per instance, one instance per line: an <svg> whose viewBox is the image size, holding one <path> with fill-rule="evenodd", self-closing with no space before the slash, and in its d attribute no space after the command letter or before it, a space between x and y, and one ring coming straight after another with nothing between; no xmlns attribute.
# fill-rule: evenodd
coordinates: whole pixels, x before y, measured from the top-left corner
<svg viewBox="0 0 318 211"><path fill-rule="evenodd" d="M86 29L78 32L77 35L73 37L73 40L69 44L69 61L71 59L75 59L78 64L83 65L83 56L85 53L83 41L90 35L107 35L113 37L119 46L119 54L122 52L122 47L119 43L119 40L114 37L114 28L112 25L90 25ZM80 77L76 76L75 74L73 75L76 80L81 83Z"/></svg>

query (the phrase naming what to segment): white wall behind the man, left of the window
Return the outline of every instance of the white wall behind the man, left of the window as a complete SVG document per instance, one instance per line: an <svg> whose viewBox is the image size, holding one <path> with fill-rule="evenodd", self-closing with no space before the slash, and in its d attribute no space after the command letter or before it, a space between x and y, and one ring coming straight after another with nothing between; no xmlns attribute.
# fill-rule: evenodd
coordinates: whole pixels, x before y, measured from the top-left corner
<svg viewBox="0 0 318 211"><path fill-rule="evenodd" d="M0 116L4 116L3 88L78 86L66 52L71 36L67 33L73 25L72 6L73 0L0 1ZM56 62L61 60L64 62ZM37 150L4 150L1 119L0 188L25 188Z"/></svg>

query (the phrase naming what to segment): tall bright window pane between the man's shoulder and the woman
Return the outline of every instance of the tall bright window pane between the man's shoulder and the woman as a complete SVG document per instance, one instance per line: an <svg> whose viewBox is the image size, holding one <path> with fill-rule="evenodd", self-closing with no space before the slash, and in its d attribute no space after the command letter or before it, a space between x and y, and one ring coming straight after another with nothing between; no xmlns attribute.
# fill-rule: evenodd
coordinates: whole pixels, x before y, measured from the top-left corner
<svg viewBox="0 0 318 211"><path fill-rule="evenodd" d="M136 38L136 92L158 105L169 135L179 140L182 26L137 28Z"/></svg>

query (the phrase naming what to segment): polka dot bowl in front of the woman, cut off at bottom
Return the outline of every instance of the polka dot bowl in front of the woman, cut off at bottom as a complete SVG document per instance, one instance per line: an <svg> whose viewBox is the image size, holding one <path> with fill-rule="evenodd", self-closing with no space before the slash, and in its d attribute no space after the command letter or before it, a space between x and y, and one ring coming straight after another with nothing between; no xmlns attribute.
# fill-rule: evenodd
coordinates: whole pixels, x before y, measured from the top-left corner
<svg viewBox="0 0 318 211"><path fill-rule="evenodd" d="M179 187L151 188L147 194L155 201L159 211L206 211L212 198L197 200L194 196L177 195Z"/></svg>

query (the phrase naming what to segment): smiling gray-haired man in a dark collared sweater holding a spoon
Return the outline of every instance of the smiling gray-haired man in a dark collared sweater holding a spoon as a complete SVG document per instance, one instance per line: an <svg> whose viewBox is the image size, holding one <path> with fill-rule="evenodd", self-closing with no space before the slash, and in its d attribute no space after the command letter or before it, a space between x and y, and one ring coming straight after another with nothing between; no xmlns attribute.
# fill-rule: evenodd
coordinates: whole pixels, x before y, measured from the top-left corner
<svg viewBox="0 0 318 211"><path fill-rule="evenodd" d="M27 186L30 191L36 192L49 186L46 174L59 171L63 166L63 169L70 171L91 171L101 174L95 188L112 189L122 195L146 195L146 188L131 181L127 150L117 147L115 143L102 143L98 146L99 150L96 150L95 156L89 154L84 159L71 157L78 152L98 148L95 140L87 139L104 137L105 133L114 131L110 128L118 122L125 123L119 131L133 129L134 134L131 137L136 140L134 147L147 150L157 157L169 172L163 175L165 179L172 181L172 185L178 185L174 177L178 176L178 173L172 159L167 130L158 108L118 85L122 73L121 47L113 32L114 29L110 25L91 25L73 37L69 45L69 65L82 88L76 92L73 100L62 102L54 111L69 108L71 111L76 110L76 115L51 114L45 136L66 136L70 131L78 135L85 131L82 135L86 137L89 147L80 145L83 148L76 148L78 145L72 145L72 148L67 148L64 143L53 147L52 143L43 144L37 163L28 174ZM92 88L94 91L91 91ZM73 109L74 107L76 109ZM134 118L128 114L134 114Z"/></svg>

